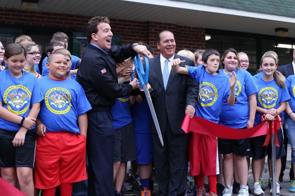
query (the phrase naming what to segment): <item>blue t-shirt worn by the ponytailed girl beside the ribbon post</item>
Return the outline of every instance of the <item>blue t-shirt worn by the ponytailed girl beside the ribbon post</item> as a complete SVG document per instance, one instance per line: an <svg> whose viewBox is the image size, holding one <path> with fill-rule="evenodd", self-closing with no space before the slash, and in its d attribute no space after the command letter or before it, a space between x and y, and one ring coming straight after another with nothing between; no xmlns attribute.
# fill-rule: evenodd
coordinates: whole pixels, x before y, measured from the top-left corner
<svg viewBox="0 0 295 196"><path fill-rule="evenodd" d="M280 106L280 103L290 99L287 87L281 88L277 85L275 80L265 81L263 78L255 80L257 86L257 106L265 109L277 109ZM260 123L260 118L262 114L255 114L254 125ZM280 114L280 117L283 117L283 113Z"/></svg>

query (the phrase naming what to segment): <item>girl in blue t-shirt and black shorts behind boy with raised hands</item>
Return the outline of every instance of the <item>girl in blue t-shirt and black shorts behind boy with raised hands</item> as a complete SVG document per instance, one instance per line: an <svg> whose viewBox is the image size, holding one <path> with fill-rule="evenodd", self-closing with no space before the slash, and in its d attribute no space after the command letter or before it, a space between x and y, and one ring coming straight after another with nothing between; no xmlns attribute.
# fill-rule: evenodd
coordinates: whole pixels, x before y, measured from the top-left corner
<svg viewBox="0 0 295 196"><path fill-rule="evenodd" d="M239 69L240 61L235 49L227 49L223 52L221 65L223 67L223 69L220 69L221 73L229 75L235 72L237 80L235 86L236 103L233 106L229 106L224 101L222 112L219 115L219 123L236 129L251 128L254 124L257 105L257 89L253 77L249 72ZM236 191L240 194L248 194L248 165L246 156L251 156L250 140L218 138L218 151L220 154L223 154L223 175L226 185L223 195L233 194L234 161L236 162L236 172L240 182L240 187Z"/></svg>

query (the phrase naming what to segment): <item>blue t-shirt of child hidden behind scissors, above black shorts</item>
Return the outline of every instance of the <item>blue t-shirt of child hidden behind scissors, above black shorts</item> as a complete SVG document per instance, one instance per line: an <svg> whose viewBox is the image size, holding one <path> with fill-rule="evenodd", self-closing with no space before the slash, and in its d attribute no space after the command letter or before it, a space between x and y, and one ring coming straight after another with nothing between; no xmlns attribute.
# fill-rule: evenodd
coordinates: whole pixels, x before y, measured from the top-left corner
<svg viewBox="0 0 295 196"><path fill-rule="evenodd" d="M129 109L129 95L122 98L117 98L115 105L112 108L113 125L115 129L132 122L131 112Z"/></svg>

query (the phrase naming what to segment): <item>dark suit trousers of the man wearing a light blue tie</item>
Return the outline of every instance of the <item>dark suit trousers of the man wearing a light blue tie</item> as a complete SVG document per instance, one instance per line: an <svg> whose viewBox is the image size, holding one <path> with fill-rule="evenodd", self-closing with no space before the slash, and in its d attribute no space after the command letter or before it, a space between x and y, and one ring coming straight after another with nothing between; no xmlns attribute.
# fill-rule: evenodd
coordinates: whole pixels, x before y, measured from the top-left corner
<svg viewBox="0 0 295 196"><path fill-rule="evenodd" d="M188 134L173 134L167 121L162 131L164 147L157 134L151 134L155 175L161 196L183 196L188 163Z"/></svg>

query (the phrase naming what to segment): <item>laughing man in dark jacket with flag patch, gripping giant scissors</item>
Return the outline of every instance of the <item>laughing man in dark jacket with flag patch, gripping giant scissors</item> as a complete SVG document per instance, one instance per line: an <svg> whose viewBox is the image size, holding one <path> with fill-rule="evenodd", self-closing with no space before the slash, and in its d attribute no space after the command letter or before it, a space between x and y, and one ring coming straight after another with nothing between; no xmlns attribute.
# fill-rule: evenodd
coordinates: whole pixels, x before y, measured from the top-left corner
<svg viewBox="0 0 295 196"><path fill-rule="evenodd" d="M112 46L113 33L107 17L91 18L87 24L87 41L77 74L92 106L87 113L87 151L89 160L89 196L114 194L114 128L111 109L116 98L130 95L138 84L118 84L116 62L135 56L136 52L151 57L146 46L129 44Z"/></svg>

